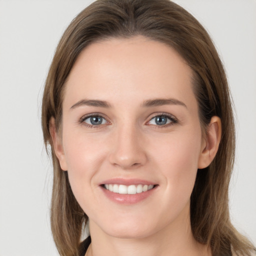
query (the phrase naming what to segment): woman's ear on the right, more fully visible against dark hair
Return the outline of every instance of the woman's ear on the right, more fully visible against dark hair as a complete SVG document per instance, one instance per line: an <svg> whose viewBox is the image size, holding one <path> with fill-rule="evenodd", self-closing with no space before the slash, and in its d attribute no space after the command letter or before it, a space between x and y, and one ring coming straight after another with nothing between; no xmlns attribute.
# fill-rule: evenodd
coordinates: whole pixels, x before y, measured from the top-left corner
<svg viewBox="0 0 256 256"><path fill-rule="evenodd" d="M202 141L198 159L198 169L207 167L215 157L221 137L221 120L218 116L212 116L206 130L206 137Z"/></svg>

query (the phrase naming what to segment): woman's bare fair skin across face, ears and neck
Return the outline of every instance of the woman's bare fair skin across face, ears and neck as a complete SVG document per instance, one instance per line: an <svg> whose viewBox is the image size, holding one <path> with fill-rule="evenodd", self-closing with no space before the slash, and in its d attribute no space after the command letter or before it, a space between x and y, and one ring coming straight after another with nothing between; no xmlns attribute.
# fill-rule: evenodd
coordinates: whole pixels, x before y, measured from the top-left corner
<svg viewBox="0 0 256 256"><path fill-rule="evenodd" d="M61 132L53 118L50 131L61 168L89 217L86 255L211 255L192 236L189 198L197 168L216 154L221 126L213 116L203 138L191 78L171 47L142 36L96 42L78 56L65 84ZM183 104L142 106L156 98ZM109 107L76 104L83 99ZM88 126L84 116L94 113L105 121ZM168 123L157 125L154 116L163 114ZM157 187L138 203L119 204L99 186L116 177Z"/></svg>

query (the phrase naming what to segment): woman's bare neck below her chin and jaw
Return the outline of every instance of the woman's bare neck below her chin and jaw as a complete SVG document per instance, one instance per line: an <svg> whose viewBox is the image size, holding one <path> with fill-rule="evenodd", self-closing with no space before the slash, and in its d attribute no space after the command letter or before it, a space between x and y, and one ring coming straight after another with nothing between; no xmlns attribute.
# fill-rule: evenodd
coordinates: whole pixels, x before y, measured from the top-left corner
<svg viewBox="0 0 256 256"><path fill-rule="evenodd" d="M186 217L176 219L173 223L157 230L153 234L144 237L119 238L107 234L90 220L90 235L92 243L88 248L86 256L210 256L210 250L193 238L189 207Z"/></svg>

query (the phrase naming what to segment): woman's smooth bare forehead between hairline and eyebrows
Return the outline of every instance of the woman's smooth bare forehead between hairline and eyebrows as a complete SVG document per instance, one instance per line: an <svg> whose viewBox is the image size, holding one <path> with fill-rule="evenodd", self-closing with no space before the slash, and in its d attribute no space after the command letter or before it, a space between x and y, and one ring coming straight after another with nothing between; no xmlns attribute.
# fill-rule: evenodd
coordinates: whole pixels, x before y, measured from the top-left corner
<svg viewBox="0 0 256 256"><path fill-rule="evenodd" d="M142 36L111 38L88 45L66 81L64 102L97 98L121 102L136 98L193 96L192 71L170 46ZM72 102L71 102L72 101Z"/></svg>

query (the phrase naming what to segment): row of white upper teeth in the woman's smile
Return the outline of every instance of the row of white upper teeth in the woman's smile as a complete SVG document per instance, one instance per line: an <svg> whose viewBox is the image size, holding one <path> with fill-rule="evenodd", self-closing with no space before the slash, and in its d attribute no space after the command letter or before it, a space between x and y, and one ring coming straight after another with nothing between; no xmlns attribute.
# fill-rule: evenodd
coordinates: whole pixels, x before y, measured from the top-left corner
<svg viewBox="0 0 256 256"><path fill-rule="evenodd" d="M119 194L135 194L145 192L153 188L154 185L118 185L118 184L104 184L105 189Z"/></svg>

